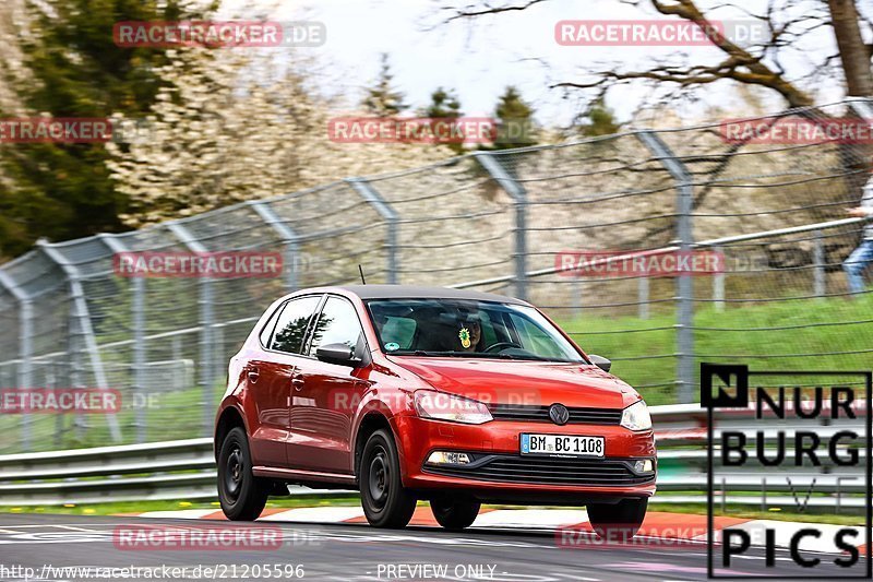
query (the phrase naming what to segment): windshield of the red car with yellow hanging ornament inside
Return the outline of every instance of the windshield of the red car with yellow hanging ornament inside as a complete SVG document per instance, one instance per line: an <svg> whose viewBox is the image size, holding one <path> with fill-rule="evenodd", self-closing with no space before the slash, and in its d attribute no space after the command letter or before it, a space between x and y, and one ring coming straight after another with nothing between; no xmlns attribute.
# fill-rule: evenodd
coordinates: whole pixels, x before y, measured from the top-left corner
<svg viewBox="0 0 873 582"><path fill-rule="evenodd" d="M533 307L467 299L373 299L368 307L387 354L586 363Z"/></svg>

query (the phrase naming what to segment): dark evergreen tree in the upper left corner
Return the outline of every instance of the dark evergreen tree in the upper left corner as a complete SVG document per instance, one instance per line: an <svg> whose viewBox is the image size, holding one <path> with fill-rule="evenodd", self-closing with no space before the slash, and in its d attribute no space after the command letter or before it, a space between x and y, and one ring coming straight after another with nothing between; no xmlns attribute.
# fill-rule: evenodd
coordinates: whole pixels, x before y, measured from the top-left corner
<svg viewBox="0 0 873 582"><path fill-rule="evenodd" d="M143 116L159 88L154 71L167 62L166 51L119 48L112 27L121 21L202 17L202 10L189 5L190 0L25 0L22 60L31 82L14 87L19 110L0 116ZM107 159L103 143L5 144L0 163L10 192L3 213L16 228L0 228L2 252L17 254L43 236L57 240L122 228L118 215L125 197L116 190Z"/></svg>

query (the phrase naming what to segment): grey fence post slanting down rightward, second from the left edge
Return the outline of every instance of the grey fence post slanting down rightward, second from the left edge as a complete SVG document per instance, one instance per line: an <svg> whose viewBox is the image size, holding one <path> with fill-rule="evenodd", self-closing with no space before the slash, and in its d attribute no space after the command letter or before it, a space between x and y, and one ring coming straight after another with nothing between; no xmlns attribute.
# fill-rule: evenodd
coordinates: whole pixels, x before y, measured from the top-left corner
<svg viewBox="0 0 873 582"><path fill-rule="evenodd" d="M94 328L91 324L91 312L88 311L88 304L85 299L85 292L82 289L79 269L46 239L40 238L36 241L36 246L49 260L57 264L67 276L67 282L70 285L70 297L73 301L71 314L72 321L76 326L76 335L80 335L84 341L85 352L88 353L88 359L91 359L91 366L94 369L94 380L97 388L99 390L108 390L109 384L106 381L106 371L103 368L100 349L97 346L97 336L94 334ZM72 340L73 330L71 329L69 333ZM75 343L77 344L77 342ZM77 345L75 345L75 352L79 352ZM115 442L121 441L121 429L118 426L118 418L116 418L116 415L107 414L106 424L109 425L109 435L111 435L112 440Z"/></svg>

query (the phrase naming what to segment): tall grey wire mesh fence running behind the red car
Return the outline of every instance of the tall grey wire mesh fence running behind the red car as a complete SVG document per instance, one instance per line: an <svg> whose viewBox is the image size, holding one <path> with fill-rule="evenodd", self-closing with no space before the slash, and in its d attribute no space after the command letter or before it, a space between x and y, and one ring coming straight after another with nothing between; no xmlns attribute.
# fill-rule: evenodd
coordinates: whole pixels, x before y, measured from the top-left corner
<svg viewBox="0 0 873 582"><path fill-rule="evenodd" d="M699 361L869 369L873 298L841 264L871 147L775 139L873 120L865 100L477 152L119 235L40 241L0 266L0 388L118 391L111 415L0 414L0 452L207 436L229 357L294 289L443 285L541 307L650 404L695 402ZM765 128L762 130L761 128ZM763 138L761 132L763 131ZM774 139L769 139L774 138ZM868 141L866 143L870 143ZM573 271L579 253L715 251L706 275ZM276 252L279 276L124 277L124 252ZM575 253L575 254L574 254ZM3 411L4 412L4 411Z"/></svg>

